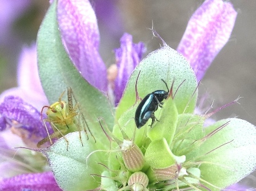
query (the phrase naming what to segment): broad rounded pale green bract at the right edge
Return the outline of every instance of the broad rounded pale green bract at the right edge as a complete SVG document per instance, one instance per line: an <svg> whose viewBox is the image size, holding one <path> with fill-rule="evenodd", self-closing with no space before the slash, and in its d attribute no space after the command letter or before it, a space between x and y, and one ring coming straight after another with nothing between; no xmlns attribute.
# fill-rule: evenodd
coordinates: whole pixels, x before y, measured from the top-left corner
<svg viewBox="0 0 256 191"><path fill-rule="evenodd" d="M226 188L253 172L256 165L256 128L253 124L242 119L225 119L205 128L205 131L206 135L215 134L205 140L198 157L195 157L195 160L202 161L199 169L203 180ZM211 190L219 190L201 183Z"/></svg>

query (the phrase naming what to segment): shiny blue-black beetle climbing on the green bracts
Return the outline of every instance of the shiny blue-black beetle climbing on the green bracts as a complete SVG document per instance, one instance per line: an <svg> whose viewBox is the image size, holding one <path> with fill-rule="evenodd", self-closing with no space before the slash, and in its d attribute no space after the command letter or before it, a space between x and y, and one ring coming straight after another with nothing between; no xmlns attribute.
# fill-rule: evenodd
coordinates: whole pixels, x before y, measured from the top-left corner
<svg viewBox="0 0 256 191"><path fill-rule="evenodd" d="M157 118L154 115L154 112L157 111L158 106L162 107L161 101L163 99L167 99L169 94L169 88L167 86L167 83L161 79L163 83L165 83L165 86L167 88L167 92L165 90L157 90L152 92L151 94L147 94L139 103L136 112L135 112L135 124L137 128L141 128L143 125L147 123L147 121L151 118L152 122L151 125L157 120Z"/></svg>

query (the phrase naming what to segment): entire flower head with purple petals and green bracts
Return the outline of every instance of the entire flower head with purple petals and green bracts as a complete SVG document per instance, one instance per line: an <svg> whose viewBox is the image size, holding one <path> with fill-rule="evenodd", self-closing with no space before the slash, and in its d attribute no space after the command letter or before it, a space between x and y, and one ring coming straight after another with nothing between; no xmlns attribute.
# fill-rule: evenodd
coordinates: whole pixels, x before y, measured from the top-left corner
<svg viewBox="0 0 256 191"><path fill-rule="evenodd" d="M107 76L90 2L53 1L38 32L38 68L32 47L28 64L34 67L27 74L29 67L22 62L19 87L1 95L0 148L5 157L0 172L11 173L0 173L0 190L221 190L251 173L256 166L254 125L224 119L205 128L210 115L195 114L198 82L229 39L236 16L231 3L207 0L191 17L177 51L162 40L163 46L143 60L143 43L134 44L124 34L115 50L114 72ZM47 105L41 86L49 102L60 105L60 111L48 106L43 116L53 129L41 121L39 105ZM67 96L69 110L62 102L67 87L75 97L73 105L71 94ZM149 120L138 129L135 111L155 90L168 95L163 103L145 101L141 110L151 111L150 104L158 109L143 116L154 123ZM108 99L110 95L114 98ZM59 118L61 123L51 120L49 113L57 117L58 112L69 117ZM63 130L70 119L76 132ZM86 121L85 132L80 120ZM5 137L14 137L5 135L10 131L23 143L7 145ZM35 148L51 137L60 139ZM19 149L13 157L11 147L30 149Z"/></svg>

